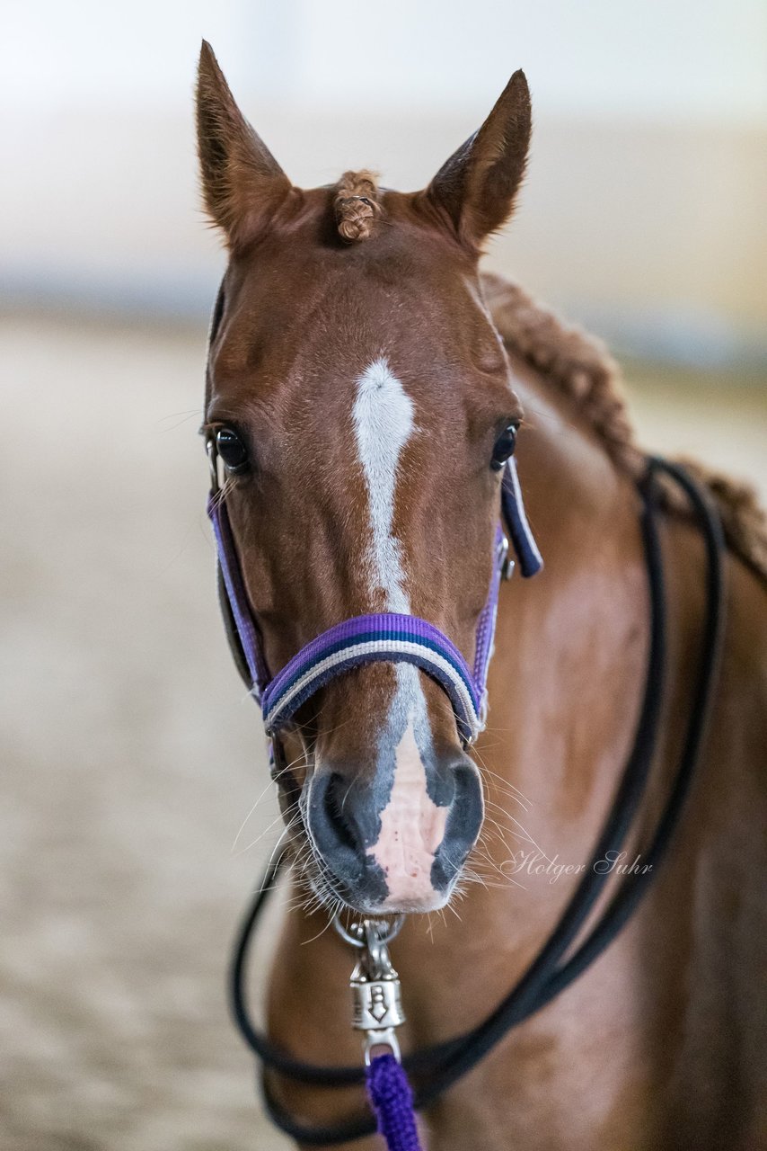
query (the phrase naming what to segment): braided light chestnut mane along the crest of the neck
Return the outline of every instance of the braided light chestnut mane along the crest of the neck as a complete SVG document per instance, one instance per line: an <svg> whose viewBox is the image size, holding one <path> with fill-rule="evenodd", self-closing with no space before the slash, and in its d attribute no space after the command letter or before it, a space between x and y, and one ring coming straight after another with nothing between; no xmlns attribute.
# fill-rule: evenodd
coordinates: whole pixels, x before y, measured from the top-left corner
<svg viewBox="0 0 767 1151"><path fill-rule="evenodd" d="M565 325L519 284L485 274L488 306L509 351L542 372L570 397L591 424L614 464L634 479L644 470L644 453L629 420L621 369L607 349L580 328ZM716 501L730 549L767 582L767 518L754 489L697 460L683 460ZM685 513L681 494L664 490L667 508Z"/></svg>

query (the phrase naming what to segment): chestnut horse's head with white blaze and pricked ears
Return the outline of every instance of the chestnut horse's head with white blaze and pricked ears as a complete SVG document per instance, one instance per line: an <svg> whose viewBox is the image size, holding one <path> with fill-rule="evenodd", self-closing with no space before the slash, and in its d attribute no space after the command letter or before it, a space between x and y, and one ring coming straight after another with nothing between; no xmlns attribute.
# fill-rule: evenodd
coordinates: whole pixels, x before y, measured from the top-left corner
<svg viewBox="0 0 767 1151"><path fill-rule="evenodd" d="M523 176L524 76L414 193L368 171L293 186L208 45L197 109L205 204L229 252L204 433L263 664L277 674L335 625L394 613L470 665L522 419L477 265ZM278 740L287 836L321 900L367 914L448 900L483 794L434 674L350 666Z"/></svg>

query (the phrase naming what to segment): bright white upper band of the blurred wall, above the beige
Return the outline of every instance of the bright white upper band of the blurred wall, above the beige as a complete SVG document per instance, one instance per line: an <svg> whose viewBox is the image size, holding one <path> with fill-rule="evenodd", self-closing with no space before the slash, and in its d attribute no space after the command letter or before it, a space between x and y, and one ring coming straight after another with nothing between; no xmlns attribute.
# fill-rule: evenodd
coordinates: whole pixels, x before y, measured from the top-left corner
<svg viewBox="0 0 767 1151"><path fill-rule="evenodd" d="M481 114L515 67L539 110L767 122L764 0L79 0L6 3L0 98L184 104L199 40L244 97Z"/></svg>

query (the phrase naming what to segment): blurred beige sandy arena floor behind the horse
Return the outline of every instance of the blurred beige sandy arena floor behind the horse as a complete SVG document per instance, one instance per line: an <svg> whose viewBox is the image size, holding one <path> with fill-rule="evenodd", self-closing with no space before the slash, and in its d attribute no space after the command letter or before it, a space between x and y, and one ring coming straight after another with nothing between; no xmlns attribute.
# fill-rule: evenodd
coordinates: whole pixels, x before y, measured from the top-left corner
<svg viewBox="0 0 767 1151"><path fill-rule="evenodd" d="M0 331L0 1145L286 1146L223 993L276 831L267 794L232 852L267 775L214 595L205 331ZM765 490L764 391L634 375L645 442Z"/></svg>

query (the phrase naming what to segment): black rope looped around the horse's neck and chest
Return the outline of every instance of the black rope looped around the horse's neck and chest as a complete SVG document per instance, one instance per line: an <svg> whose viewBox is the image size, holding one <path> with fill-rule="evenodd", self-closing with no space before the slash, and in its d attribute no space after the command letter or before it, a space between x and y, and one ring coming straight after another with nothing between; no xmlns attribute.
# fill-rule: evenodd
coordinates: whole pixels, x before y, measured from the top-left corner
<svg viewBox="0 0 767 1151"><path fill-rule="evenodd" d="M597 871L595 864L606 859L608 852L621 851L644 795L657 747L666 666L666 601L657 523L658 473L668 475L687 494L705 541L706 610L698 674L678 768L650 847L642 853L644 868L641 874L624 878L588 937L565 959L608 879L608 872ZM516 986L473 1030L445 1043L423 1047L402 1059L405 1069L419 1083L415 1090L415 1105L419 1108L434 1103L475 1067L511 1028L554 999L609 946L649 890L678 823L700 754L723 637L724 541L719 516L708 496L683 467L659 457L650 457L639 494L643 501L642 536L651 608L647 673L634 748L612 809L595 847L590 867L549 940ZM365 1069L361 1066L322 1067L305 1064L293 1059L253 1026L245 991L248 952L259 916L275 886L284 859L284 855L277 857L267 869L235 943L230 970L230 1000L235 1022L247 1045L263 1062L264 1070L268 1068L287 1078L328 1088L361 1085L365 1082ZM271 1120L299 1143L325 1146L373 1135L376 1130L375 1119L370 1115L359 1115L335 1126L307 1127L297 1122L277 1102L266 1075L262 1087Z"/></svg>

